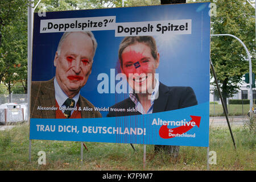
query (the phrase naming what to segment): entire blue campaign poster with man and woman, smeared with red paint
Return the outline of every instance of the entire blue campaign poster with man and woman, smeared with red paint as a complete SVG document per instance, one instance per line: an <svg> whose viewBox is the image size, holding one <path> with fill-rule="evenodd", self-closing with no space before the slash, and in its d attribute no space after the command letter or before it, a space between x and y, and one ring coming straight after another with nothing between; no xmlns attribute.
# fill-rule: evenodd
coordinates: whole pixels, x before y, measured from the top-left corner
<svg viewBox="0 0 256 182"><path fill-rule="evenodd" d="M208 147L209 5L35 13L30 139Z"/></svg>

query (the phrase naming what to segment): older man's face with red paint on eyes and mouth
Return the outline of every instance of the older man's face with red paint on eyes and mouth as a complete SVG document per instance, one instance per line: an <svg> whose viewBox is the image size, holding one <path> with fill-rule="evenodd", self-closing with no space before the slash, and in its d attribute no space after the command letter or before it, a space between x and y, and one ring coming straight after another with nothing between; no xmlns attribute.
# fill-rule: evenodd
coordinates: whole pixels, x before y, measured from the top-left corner
<svg viewBox="0 0 256 182"><path fill-rule="evenodd" d="M77 94L86 84L92 71L92 62L92 39L81 32L69 34L54 60L57 82L68 96Z"/></svg>

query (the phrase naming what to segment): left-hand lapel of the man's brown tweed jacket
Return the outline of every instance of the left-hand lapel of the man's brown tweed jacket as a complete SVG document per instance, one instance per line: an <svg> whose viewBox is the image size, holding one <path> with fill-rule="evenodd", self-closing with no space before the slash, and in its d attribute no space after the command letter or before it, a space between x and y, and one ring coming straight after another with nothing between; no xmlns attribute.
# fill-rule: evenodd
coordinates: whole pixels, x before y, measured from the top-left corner
<svg viewBox="0 0 256 182"><path fill-rule="evenodd" d="M54 77L49 80L48 82L44 82L42 84L41 92L43 93L42 96L39 97L40 104L42 107L51 107L51 106L56 106L56 101L55 101L55 89L54 89ZM43 113L46 115L47 118L52 118L53 115L55 118L55 110L45 110Z"/></svg>

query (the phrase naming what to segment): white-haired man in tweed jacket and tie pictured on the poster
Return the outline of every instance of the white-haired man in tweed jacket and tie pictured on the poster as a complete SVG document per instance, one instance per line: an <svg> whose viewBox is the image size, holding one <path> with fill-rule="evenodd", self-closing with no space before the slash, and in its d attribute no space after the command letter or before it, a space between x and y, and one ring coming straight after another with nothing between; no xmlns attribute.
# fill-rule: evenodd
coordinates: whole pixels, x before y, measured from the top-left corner
<svg viewBox="0 0 256 182"><path fill-rule="evenodd" d="M100 112L80 95L92 72L97 42L90 31L65 32L54 57L55 77L32 81L31 118L98 118ZM83 110L83 108L90 108Z"/></svg>

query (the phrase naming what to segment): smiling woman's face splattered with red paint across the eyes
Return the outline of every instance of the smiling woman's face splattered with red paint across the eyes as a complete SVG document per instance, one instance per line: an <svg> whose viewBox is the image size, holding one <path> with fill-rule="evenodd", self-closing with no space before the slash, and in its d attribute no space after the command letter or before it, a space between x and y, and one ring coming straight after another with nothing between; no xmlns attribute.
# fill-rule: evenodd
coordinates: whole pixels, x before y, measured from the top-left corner
<svg viewBox="0 0 256 182"><path fill-rule="evenodd" d="M134 63L139 63L135 67ZM135 93L150 93L154 88L154 73L159 65L159 54L155 60L151 49L144 43L136 43L126 47L122 52L122 72Z"/></svg>

